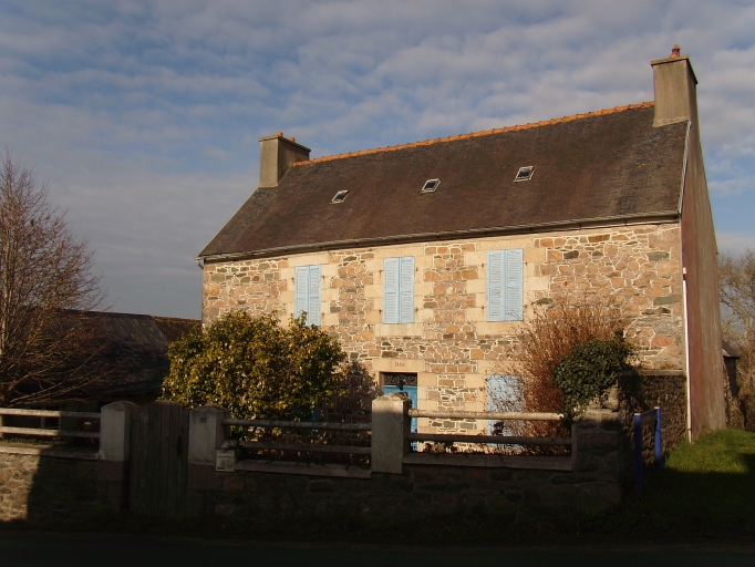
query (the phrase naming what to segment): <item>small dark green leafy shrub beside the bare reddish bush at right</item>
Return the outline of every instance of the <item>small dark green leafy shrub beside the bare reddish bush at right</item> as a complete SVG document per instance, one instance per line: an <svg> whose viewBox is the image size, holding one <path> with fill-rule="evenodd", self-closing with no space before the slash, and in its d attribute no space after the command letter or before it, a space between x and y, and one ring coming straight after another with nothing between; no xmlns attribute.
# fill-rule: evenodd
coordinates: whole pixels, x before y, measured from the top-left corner
<svg viewBox="0 0 755 567"><path fill-rule="evenodd" d="M572 347L554 371L567 420L585 413L592 400L616 384L630 368L633 350L620 332L613 339L592 338Z"/></svg>

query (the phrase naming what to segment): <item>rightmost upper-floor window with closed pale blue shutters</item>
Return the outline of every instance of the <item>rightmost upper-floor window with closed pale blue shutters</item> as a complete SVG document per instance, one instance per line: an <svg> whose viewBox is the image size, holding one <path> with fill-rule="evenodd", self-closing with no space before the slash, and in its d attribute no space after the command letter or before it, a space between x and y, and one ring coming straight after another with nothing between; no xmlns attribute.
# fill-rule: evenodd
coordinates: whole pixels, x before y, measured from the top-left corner
<svg viewBox="0 0 755 567"><path fill-rule="evenodd" d="M524 316L521 249L487 252L487 320L521 321Z"/></svg>

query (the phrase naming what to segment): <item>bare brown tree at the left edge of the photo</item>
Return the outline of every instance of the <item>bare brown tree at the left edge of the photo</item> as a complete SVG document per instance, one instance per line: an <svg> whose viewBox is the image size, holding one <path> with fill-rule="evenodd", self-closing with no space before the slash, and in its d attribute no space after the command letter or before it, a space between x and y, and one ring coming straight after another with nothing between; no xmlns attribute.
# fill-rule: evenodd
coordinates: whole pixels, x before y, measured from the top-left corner
<svg viewBox="0 0 755 567"><path fill-rule="evenodd" d="M0 166L0 406L65 399L93 380L102 308L86 240L9 152Z"/></svg>

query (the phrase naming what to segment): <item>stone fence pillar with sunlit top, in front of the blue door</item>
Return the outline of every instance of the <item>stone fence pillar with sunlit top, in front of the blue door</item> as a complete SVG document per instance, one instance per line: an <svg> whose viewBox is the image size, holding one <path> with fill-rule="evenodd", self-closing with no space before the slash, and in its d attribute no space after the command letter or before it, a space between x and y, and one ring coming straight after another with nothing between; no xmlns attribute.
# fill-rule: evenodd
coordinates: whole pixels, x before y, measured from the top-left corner
<svg viewBox="0 0 755 567"><path fill-rule="evenodd" d="M404 454L408 452L410 401L406 394L392 393L372 401L373 473L401 474Z"/></svg>

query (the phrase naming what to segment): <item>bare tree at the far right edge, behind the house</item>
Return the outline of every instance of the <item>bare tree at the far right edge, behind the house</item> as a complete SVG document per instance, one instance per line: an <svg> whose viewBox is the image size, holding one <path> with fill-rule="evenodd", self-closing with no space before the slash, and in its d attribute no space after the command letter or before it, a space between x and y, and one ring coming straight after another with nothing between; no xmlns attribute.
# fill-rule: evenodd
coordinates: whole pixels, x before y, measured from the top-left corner
<svg viewBox="0 0 755 567"><path fill-rule="evenodd" d="M740 410L746 426L755 431L755 251L721 256L718 287L724 339L741 354L737 364Z"/></svg>

